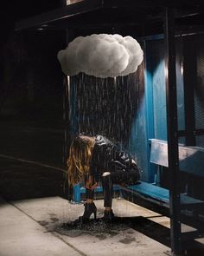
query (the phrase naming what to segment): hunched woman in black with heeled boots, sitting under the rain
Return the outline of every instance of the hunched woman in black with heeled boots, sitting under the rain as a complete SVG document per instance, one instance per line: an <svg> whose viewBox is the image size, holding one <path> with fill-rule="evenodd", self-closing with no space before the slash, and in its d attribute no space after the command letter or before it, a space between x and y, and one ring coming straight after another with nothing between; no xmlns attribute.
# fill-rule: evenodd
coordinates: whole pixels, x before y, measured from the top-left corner
<svg viewBox="0 0 204 256"><path fill-rule="evenodd" d="M104 219L112 220L112 184L131 186L140 178L139 168L131 156L118 150L105 136L78 135L71 143L67 160L69 186L85 182L86 204L82 220L96 219L93 202L94 188L102 182L104 191Z"/></svg>

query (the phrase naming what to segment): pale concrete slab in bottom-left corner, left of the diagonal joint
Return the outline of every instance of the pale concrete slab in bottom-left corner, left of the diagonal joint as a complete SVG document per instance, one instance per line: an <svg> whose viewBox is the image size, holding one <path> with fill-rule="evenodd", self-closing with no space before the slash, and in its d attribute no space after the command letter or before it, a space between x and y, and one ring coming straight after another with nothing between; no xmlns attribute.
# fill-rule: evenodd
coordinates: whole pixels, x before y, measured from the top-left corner
<svg viewBox="0 0 204 256"><path fill-rule="evenodd" d="M1 256L80 256L31 216L0 200Z"/></svg>

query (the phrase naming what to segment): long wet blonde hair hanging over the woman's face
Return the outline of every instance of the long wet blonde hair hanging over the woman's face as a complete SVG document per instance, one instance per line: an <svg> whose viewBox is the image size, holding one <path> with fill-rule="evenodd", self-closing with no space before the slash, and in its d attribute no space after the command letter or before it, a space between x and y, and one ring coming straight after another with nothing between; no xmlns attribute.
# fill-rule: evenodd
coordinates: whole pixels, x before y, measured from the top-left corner
<svg viewBox="0 0 204 256"><path fill-rule="evenodd" d="M89 174L94 141L92 137L88 136L77 136L73 139L67 160L69 186L82 182L84 176Z"/></svg>

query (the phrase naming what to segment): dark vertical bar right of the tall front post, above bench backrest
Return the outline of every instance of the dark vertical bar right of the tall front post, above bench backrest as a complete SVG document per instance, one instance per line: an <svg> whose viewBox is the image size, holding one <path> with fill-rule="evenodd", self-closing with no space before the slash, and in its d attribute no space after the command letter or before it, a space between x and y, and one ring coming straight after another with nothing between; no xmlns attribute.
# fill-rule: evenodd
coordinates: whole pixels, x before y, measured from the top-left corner
<svg viewBox="0 0 204 256"><path fill-rule="evenodd" d="M192 43L192 40L194 43ZM194 146L196 143L194 135L194 84L197 81L195 40L196 37L194 36L190 36L190 38L185 36L183 39L183 82L187 146ZM192 47L193 45L194 47Z"/></svg>

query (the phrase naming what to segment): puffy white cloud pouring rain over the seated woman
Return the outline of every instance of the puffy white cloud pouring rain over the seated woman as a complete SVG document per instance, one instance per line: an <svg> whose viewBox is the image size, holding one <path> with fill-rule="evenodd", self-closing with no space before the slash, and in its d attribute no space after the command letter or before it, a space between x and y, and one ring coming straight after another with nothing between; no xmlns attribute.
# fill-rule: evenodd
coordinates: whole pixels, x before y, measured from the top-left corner
<svg viewBox="0 0 204 256"><path fill-rule="evenodd" d="M76 37L58 53L66 75L129 75L143 62L143 50L131 36L99 34Z"/></svg>

